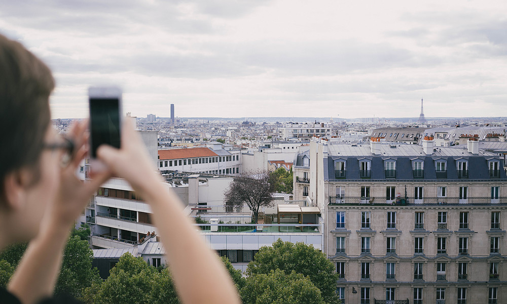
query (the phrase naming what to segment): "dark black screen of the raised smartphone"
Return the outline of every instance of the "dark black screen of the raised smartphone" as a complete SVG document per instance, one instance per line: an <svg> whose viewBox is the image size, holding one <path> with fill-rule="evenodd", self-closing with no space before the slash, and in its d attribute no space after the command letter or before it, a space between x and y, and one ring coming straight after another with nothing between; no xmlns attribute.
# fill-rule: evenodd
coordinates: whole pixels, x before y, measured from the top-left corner
<svg viewBox="0 0 507 304"><path fill-rule="evenodd" d="M91 157L97 157L102 144L120 148L120 109L118 99L90 98Z"/></svg>

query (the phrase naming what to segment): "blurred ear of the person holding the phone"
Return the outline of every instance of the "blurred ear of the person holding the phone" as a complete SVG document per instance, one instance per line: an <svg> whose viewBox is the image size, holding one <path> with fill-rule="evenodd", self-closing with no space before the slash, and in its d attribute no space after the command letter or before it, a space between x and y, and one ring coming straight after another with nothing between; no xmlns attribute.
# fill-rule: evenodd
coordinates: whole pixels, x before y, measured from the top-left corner
<svg viewBox="0 0 507 304"><path fill-rule="evenodd" d="M7 174L4 179L6 206L11 210L19 210L26 202L26 190L30 183L30 173L27 170L15 170Z"/></svg>

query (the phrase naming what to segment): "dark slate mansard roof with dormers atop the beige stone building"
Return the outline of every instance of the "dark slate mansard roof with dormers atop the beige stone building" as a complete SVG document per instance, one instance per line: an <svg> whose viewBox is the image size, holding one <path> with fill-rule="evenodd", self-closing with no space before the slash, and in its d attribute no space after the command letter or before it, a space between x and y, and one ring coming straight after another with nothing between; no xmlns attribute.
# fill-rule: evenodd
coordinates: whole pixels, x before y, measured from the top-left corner
<svg viewBox="0 0 507 304"><path fill-rule="evenodd" d="M463 180L495 180L505 181L507 176L503 169L499 170L499 178L491 178L488 162L491 160L499 162L499 168L503 166L503 160L498 154L479 151L479 154L469 153L467 150L434 147L433 153L426 155L422 146L410 144L384 144L380 145L380 154L372 154L369 144L334 144L328 145L328 157L324 157L324 179L325 180L413 180L428 181L437 180L436 162L446 162L447 178L444 180L458 180L457 161L462 160L468 163L468 177ZM396 162L395 178L385 178L384 162L387 160ZM335 163L345 162L346 175L344 178L335 177ZM360 177L360 162L370 161L370 178ZM423 178L414 178L412 162L422 161ZM439 178L438 180L442 180Z"/></svg>

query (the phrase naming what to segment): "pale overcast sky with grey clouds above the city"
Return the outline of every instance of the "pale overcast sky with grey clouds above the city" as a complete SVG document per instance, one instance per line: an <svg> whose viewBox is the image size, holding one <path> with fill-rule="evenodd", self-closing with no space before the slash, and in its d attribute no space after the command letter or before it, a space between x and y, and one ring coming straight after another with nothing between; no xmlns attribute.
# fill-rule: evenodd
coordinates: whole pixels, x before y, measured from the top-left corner
<svg viewBox="0 0 507 304"><path fill-rule="evenodd" d="M4 1L53 118L119 84L132 116L507 116L507 1ZM339 115L339 116L338 116Z"/></svg>

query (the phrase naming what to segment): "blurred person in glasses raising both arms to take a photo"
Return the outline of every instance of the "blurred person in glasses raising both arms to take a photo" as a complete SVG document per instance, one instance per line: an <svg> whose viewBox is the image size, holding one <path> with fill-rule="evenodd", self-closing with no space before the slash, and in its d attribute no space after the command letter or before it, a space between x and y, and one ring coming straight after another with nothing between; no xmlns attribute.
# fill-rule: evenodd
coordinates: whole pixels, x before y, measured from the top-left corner
<svg viewBox="0 0 507 304"><path fill-rule="evenodd" d="M126 120L121 149L101 146L108 167L76 177L87 155L87 122L69 128L66 139L50 126L50 69L21 44L0 34L0 250L29 241L0 303L53 303L65 242L97 188L112 175L126 179L150 204L183 303L239 303L219 257L183 213L178 197L164 186L146 148ZM75 301L64 299L64 302Z"/></svg>

